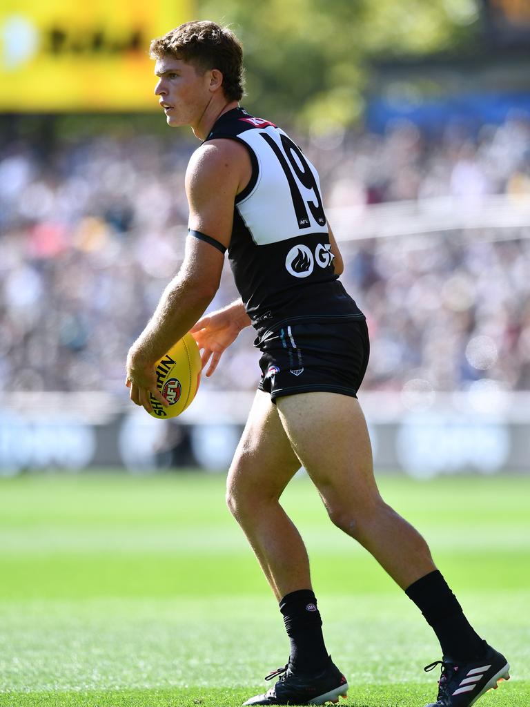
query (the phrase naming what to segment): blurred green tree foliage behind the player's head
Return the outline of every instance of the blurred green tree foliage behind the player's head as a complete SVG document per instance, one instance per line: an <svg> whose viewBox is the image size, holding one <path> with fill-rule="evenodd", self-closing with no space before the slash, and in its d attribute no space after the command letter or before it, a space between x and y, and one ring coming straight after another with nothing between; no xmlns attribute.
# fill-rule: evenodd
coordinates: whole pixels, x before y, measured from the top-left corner
<svg viewBox="0 0 530 707"><path fill-rule="evenodd" d="M476 0L201 0L199 17L240 37L249 110L314 134L358 122L374 57L462 49Z"/></svg>

